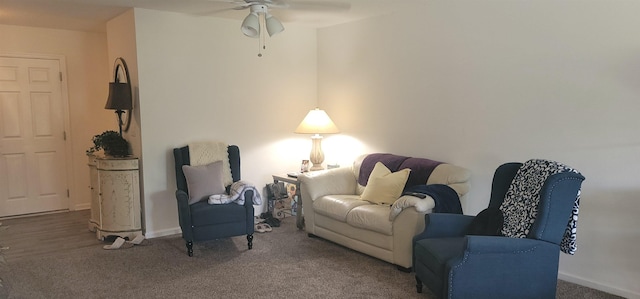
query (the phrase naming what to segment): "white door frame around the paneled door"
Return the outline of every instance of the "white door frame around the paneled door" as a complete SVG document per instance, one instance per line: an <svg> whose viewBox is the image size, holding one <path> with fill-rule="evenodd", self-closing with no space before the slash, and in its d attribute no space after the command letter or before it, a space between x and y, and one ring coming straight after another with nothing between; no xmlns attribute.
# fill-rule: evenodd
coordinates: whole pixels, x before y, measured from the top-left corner
<svg viewBox="0 0 640 299"><path fill-rule="evenodd" d="M26 58L26 59L46 59L46 60L58 60L60 65L60 97L62 99L62 122L64 124L65 140L64 151L66 158L65 172L67 175L67 210L75 210L75 200L72 198L73 187L75 187L75 181L73 180L73 145L71 125L69 121L69 93L67 89L67 60L64 55L59 54L39 54L39 53L14 53L14 52L2 52L0 51L0 57L7 58ZM46 212L43 212L46 213Z"/></svg>

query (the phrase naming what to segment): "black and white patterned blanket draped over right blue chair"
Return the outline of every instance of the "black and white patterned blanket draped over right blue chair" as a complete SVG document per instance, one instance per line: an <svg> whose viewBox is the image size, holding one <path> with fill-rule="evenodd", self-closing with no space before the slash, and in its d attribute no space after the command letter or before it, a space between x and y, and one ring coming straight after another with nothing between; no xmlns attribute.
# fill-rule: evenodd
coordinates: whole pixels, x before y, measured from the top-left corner
<svg viewBox="0 0 640 299"><path fill-rule="evenodd" d="M579 173L575 169L555 161L532 159L525 162L513 179L505 199L500 205L504 215L502 234L508 237L525 238L538 214L540 190L547 177L563 172ZM560 250L564 253L575 254L576 228L580 207L580 190L576 194L571 218L567 224Z"/></svg>

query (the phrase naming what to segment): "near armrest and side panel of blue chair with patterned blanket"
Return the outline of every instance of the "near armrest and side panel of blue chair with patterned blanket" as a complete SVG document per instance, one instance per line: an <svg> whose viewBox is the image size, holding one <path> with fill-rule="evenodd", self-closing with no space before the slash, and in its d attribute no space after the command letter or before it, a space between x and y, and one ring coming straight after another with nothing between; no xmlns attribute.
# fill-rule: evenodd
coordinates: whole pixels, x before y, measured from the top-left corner
<svg viewBox="0 0 640 299"><path fill-rule="evenodd" d="M479 292L491 294L490 298L555 298L558 245L496 236L466 240L464 254L447 262L449 298L477 298ZM498 275L488 273L501 274L496 280Z"/></svg>

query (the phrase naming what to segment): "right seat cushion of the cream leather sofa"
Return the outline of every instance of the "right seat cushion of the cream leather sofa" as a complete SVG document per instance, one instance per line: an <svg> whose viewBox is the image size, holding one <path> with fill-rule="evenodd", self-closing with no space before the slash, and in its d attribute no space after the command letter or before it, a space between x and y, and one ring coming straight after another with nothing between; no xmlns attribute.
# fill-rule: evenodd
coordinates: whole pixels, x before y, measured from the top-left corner
<svg viewBox="0 0 640 299"><path fill-rule="evenodd" d="M354 207L347 215L351 226L393 235L393 222L389 221L389 206L368 204Z"/></svg>

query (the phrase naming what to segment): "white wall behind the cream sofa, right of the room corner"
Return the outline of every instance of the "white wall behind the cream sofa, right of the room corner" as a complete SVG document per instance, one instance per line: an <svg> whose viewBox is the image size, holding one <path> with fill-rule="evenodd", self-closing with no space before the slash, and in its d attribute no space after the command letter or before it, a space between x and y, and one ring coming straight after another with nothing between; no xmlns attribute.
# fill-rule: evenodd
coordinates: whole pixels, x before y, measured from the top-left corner
<svg viewBox="0 0 640 299"><path fill-rule="evenodd" d="M319 103L366 150L469 168L466 214L486 207L504 162L577 168L587 178L578 252L561 256L560 277L640 298L638 11L637 1L425 1L321 29Z"/></svg>

